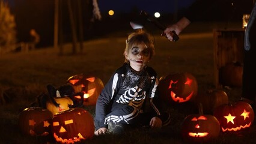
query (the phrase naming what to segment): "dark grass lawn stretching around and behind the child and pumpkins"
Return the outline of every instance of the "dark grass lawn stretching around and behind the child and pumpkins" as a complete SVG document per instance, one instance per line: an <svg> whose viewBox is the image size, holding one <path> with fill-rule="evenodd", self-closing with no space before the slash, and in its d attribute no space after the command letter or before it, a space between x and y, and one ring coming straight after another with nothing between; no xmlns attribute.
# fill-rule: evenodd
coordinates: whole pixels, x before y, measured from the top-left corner
<svg viewBox="0 0 256 144"><path fill-rule="evenodd" d="M201 29L195 30L196 27ZM149 65L159 77L189 72L198 81L198 91L214 89L212 28L224 27L223 23L194 23L175 43L160 37L160 31L154 32L156 55ZM93 74L103 83L108 82L112 73L123 64L128 32L115 32L108 37L84 41L84 52L76 55L71 54L70 43L64 44L64 55L58 55L58 49L53 47L1 55L0 143L46 143L43 137L28 137L20 133L17 125L19 113L29 107L37 95L47 92L47 84L59 87L75 74ZM227 92L230 102L240 99L240 88L222 90ZM84 109L94 115L94 107L84 106ZM183 140L180 134L183 119L194 113L190 105L170 106L169 111L172 122L161 130L133 130L124 136L107 134L84 143L190 143ZM255 134L256 127L252 125L236 133L220 133L218 139L208 143L255 143Z"/></svg>

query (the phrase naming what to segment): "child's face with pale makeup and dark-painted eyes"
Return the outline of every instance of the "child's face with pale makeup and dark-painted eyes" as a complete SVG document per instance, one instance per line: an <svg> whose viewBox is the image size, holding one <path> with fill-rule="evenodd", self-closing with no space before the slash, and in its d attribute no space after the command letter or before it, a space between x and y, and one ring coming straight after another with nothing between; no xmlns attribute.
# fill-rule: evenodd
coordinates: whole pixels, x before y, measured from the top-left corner
<svg viewBox="0 0 256 144"><path fill-rule="evenodd" d="M129 52L124 54L129 60L130 66L136 71L141 71L150 60L150 50L144 43L133 44Z"/></svg>

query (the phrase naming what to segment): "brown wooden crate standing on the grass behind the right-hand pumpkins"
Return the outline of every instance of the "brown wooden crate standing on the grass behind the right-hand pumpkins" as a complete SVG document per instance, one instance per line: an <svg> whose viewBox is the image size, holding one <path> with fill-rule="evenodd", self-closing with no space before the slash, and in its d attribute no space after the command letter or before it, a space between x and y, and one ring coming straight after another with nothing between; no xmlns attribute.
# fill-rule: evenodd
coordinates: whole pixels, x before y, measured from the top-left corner
<svg viewBox="0 0 256 144"><path fill-rule="evenodd" d="M213 29L214 85L222 88L219 69L229 62L243 63L244 29Z"/></svg>

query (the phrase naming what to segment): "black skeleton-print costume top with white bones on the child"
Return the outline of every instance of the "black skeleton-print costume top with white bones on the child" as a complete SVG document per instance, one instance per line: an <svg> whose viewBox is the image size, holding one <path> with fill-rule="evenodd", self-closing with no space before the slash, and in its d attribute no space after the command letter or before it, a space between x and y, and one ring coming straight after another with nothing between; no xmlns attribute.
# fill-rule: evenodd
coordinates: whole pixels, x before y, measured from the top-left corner
<svg viewBox="0 0 256 144"><path fill-rule="evenodd" d="M129 64L118 68L97 100L96 129L107 127L108 122L133 124L140 113L148 111L160 115L153 103L157 85L157 74L151 67L139 73Z"/></svg>

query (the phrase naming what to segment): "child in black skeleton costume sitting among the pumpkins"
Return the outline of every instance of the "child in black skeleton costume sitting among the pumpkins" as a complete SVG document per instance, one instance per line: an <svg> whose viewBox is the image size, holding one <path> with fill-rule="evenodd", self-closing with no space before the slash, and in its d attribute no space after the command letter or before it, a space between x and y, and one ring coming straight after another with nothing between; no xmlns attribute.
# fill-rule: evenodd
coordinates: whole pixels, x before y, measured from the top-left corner
<svg viewBox="0 0 256 144"><path fill-rule="evenodd" d="M96 104L96 135L124 125L160 128L169 123L156 107L158 79L147 63L154 55L154 44L146 32L134 32L126 40L125 62L112 75ZM158 101L157 101L158 102Z"/></svg>

